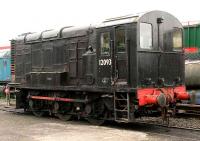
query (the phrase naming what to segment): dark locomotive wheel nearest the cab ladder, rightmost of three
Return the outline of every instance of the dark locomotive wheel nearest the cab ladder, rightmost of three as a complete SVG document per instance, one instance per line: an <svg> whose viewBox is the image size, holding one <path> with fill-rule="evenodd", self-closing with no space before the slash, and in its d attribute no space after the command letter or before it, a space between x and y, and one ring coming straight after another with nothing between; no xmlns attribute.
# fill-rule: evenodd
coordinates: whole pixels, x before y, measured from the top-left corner
<svg viewBox="0 0 200 141"><path fill-rule="evenodd" d="M106 110L103 102L93 102L85 106L85 112L89 115L87 120L93 125L102 125L105 122Z"/></svg>

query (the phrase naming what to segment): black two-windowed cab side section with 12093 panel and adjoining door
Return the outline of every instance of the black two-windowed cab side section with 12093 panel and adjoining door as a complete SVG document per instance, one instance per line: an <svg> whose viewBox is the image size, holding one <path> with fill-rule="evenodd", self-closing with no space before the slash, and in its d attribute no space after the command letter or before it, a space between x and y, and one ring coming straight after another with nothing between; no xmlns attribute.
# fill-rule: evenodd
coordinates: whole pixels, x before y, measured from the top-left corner
<svg viewBox="0 0 200 141"><path fill-rule="evenodd" d="M97 80L103 87L127 84L126 27L101 28L97 32Z"/></svg>

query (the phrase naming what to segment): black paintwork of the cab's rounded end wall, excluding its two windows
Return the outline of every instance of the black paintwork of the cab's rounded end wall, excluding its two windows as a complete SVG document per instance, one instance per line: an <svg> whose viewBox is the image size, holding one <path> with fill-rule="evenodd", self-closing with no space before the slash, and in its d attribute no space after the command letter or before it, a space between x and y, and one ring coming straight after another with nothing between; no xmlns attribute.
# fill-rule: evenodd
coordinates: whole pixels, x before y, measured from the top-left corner
<svg viewBox="0 0 200 141"><path fill-rule="evenodd" d="M163 19L162 23L157 22L158 18ZM177 80L179 84L183 84L184 54L182 50L174 51L172 47L172 33L176 29L182 29L181 23L172 15L159 11L145 14L139 22L152 24L153 49L142 50L137 36L138 84L143 85L146 80L156 86L159 86L160 80L166 86L176 85Z"/></svg>

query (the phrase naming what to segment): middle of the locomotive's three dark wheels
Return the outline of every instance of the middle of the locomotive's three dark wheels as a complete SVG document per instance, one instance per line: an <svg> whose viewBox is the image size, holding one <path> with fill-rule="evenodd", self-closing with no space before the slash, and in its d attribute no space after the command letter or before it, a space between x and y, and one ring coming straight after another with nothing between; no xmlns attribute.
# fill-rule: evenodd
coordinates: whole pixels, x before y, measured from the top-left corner
<svg viewBox="0 0 200 141"><path fill-rule="evenodd" d="M63 121L68 121L72 119L70 112L72 111L71 103L54 103L55 116Z"/></svg>

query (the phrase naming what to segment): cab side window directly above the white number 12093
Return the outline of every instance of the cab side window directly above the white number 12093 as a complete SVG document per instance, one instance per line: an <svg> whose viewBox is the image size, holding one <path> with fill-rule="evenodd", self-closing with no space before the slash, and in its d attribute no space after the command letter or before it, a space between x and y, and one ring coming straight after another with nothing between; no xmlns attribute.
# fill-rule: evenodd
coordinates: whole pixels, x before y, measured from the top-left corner
<svg viewBox="0 0 200 141"><path fill-rule="evenodd" d="M110 33L101 33L101 55L110 55Z"/></svg>

